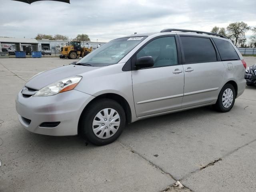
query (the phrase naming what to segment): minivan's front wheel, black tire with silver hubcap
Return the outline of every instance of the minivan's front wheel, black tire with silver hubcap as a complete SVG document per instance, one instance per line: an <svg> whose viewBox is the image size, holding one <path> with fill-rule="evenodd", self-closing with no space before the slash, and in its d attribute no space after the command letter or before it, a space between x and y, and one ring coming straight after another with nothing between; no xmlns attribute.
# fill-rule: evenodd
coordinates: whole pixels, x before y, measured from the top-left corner
<svg viewBox="0 0 256 192"><path fill-rule="evenodd" d="M106 145L115 141L125 126L125 112L112 99L94 101L81 116L80 132L95 145Z"/></svg>

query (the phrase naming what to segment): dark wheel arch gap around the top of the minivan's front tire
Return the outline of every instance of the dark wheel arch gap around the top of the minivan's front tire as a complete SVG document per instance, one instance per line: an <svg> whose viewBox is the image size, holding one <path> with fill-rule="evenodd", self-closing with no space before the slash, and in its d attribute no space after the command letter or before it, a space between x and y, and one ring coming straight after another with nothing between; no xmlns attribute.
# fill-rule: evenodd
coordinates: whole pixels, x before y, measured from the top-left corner
<svg viewBox="0 0 256 192"><path fill-rule="evenodd" d="M81 117L82 117L82 115L84 114L84 112L86 111L88 106L90 106L92 103L94 103L97 100L100 100L102 98L108 98L108 99L112 99L112 100L118 102L122 106L122 108L124 109L125 116L126 116L126 122L127 123L131 123L132 122L132 112L131 112L131 108L130 108L130 105L127 102L127 100L124 97L122 97L122 96L120 96L119 94L116 94L116 93L104 93L104 94L100 94L100 95L96 96L95 98L93 98L85 106L84 110L80 114L79 121L78 121L78 135L80 134L80 124L81 124Z"/></svg>

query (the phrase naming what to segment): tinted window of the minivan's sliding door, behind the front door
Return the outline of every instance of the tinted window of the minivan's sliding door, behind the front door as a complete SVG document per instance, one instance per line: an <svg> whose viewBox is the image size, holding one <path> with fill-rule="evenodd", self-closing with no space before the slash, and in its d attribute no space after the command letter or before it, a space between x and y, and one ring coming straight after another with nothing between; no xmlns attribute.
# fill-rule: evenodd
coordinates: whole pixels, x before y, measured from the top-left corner
<svg viewBox="0 0 256 192"><path fill-rule="evenodd" d="M185 63L217 61L216 51L209 38L181 36Z"/></svg>

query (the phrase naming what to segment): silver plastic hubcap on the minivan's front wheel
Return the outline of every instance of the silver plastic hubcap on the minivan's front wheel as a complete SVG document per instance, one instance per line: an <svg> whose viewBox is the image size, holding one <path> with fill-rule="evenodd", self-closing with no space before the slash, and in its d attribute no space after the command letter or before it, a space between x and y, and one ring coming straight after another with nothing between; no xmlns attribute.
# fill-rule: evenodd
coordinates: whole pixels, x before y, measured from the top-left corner
<svg viewBox="0 0 256 192"><path fill-rule="evenodd" d="M120 116L112 108L100 110L92 121L92 131L101 139L112 137L120 126Z"/></svg>

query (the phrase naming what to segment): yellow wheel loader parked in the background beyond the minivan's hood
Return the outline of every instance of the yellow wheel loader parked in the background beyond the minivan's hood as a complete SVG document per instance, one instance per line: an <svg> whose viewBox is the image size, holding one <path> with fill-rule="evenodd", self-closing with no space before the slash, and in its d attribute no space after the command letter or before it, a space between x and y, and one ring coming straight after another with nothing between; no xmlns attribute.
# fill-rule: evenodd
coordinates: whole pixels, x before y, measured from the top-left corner
<svg viewBox="0 0 256 192"><path fill-rule="evenodd" d="M87 54L92 52L92 47L86 48L81 47L81 42L79 41L71 41L68 45L62 47L60 49L60 58L69 58L69 59L76 59L79 57L84 57Z"/></svg>

